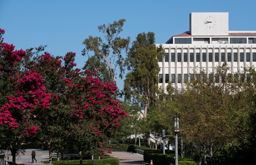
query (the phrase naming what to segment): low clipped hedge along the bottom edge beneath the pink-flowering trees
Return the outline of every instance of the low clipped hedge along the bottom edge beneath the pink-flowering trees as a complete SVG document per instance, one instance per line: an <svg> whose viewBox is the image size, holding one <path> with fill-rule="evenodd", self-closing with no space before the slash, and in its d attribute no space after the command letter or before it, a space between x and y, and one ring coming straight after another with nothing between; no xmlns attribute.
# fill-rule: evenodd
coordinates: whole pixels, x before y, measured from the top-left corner
<svg viewBox="0 0 256 165"><path fill-rule="evenodd" d="M49 161L44 161L49 163ZM79 160L73 161L52 161L53 165L75 165L80 164ZM83 160L83 164L110 164L110 165L119 165L119 159L117 158L108 158L108 159L94 159L94 160Z"/></svg>

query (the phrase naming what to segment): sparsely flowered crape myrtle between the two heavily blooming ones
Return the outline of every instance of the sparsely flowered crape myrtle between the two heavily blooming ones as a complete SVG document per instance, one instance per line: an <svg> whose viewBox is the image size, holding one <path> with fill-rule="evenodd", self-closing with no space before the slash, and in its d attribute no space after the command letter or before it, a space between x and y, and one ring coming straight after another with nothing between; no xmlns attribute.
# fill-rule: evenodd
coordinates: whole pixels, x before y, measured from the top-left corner
<svg viewBox="0 0 256 165"><path fill-rule="evenodd" d="M52 94L48 109L36 109L35 120L39 125L39 138L41 142L46 142L49 149L49 162L52 162L52 152L56 150L63 153L67 148L68 138L71 131L67 134L73 124L70 118L71 101L69 88L72 82L80 74L80 69L74 67L76 64L75 53L68 52L64 57L53 57L45 52L37 55L29 62L27 68L35 68L37 72L45 77L45 87L48 93Z"/></svg>

